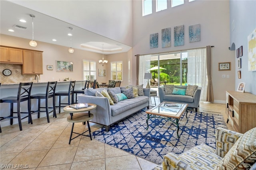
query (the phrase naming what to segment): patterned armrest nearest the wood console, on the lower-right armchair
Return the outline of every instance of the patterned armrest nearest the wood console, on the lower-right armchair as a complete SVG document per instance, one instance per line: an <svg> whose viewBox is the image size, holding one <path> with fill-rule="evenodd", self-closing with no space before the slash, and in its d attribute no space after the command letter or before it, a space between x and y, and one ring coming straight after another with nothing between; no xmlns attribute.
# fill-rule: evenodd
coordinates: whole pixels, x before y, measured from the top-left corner
<svg viewBox="0 0 256 170"><path fill-rule="evenodd" d="M242 136L242 133L224 129L218 127L215 132L216 139L216 154L222 158L226 155L228 150L236 143L236 141Z"/></svg>

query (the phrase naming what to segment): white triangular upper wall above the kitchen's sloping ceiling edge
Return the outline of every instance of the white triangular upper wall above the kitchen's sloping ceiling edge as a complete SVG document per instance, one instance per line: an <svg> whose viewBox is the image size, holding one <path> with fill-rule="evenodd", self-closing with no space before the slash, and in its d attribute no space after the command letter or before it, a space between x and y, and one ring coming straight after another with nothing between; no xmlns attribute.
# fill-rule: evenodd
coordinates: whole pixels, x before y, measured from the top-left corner
<svg viewBox="0 0 256 170"><path fill-rule="evenodd" d="M132 47L132 0L10 0Z"/></svg>

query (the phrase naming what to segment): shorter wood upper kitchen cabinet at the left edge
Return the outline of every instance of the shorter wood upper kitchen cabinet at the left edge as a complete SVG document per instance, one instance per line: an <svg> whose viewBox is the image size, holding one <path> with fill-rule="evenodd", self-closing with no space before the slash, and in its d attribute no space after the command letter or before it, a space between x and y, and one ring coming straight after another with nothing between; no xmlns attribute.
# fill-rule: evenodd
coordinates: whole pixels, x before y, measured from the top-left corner
<svg viewBox="0 0 256 170"><path fill-rule="evenodd" d="M22 49L0 47L0 63L22 64Z"/></svg>

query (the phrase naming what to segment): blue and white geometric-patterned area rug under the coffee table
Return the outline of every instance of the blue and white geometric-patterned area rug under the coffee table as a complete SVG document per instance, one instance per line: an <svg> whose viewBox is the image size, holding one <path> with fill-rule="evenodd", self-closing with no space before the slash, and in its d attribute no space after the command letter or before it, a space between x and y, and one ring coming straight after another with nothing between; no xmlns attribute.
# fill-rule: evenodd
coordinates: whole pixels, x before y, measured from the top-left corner
<svg viewBox="0 0 256 170"><path fill-rule="evenodd" d="M106 132L105 127L93 132L96 140L131 154L161 164L168 152L180 154L196 145L205 143L215 148L215 129L228 129L222 115L194 112L188 110L182 115L177 137L175 123L166 119L152 118L148 121L147 109L141 110L130 117L115 123Z"/></svg>

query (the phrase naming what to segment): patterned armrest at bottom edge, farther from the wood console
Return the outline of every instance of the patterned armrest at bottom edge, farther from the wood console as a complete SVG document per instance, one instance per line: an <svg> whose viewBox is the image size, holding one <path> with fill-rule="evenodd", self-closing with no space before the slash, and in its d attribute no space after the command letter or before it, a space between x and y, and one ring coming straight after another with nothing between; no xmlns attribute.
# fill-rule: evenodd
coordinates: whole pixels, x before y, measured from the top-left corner
<svg viewBox="0 0 256 170"><path fill-rule="evenodd" d="M179 164L182 163L183 167L186 167L186 163L182 160L182 158L176 156L176 154L170 152L164 155L163 161L163 169L164 170L177 170L179 168Z"/></svg>

